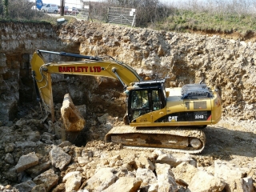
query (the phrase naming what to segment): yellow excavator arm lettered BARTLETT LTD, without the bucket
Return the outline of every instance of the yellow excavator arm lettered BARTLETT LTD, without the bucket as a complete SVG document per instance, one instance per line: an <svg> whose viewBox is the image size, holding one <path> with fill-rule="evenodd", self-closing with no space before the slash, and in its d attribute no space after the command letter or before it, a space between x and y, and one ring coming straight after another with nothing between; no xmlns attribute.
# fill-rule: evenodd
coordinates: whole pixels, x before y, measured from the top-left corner
<svg viewBox="0 0 256 192"><path fill-rule="evenodd" d="M79 62L49 62L46 63L42 53L58 54L60 56L83 58ZM142 78L130 66L115 61L114 58L98 58L81 54L69 54L65 52L52 52L36 50L31 59L32 77L35 90L38 94L38 102L42 101L46 114L51 114L54 122L54 102L52 94L50 74L78 74L98 77L115 78L122 82L126 89L133 82L140 82Z"/></svg>

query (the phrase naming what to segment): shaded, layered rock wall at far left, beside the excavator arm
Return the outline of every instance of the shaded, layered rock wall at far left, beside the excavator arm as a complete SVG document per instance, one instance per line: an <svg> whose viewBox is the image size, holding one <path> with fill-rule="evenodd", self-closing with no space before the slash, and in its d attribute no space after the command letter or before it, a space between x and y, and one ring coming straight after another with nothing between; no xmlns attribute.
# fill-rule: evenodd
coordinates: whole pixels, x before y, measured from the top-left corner
<svg viewBox="0 0 256 192"><path fill-rule="evenodd" d="M0 121L8 122L15 118L18 102L32 100L30 58L34 50L54 49L62 43L46 23L0 22L0 28Z"/></svg>

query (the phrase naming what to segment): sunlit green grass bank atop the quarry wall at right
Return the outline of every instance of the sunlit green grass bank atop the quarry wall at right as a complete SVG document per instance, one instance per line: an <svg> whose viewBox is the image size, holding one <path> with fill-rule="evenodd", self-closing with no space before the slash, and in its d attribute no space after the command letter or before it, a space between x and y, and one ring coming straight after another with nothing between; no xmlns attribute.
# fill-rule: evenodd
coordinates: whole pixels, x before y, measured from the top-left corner
<svg viewBox="0 0 256 192"><path fill-rule="evenodd" d="M213 14L208 11L194 12L176 10L162 22L158 22L158 30L176 30L187 32L200 30L207 32L246 34L256 30L256 14Z"/></svg>

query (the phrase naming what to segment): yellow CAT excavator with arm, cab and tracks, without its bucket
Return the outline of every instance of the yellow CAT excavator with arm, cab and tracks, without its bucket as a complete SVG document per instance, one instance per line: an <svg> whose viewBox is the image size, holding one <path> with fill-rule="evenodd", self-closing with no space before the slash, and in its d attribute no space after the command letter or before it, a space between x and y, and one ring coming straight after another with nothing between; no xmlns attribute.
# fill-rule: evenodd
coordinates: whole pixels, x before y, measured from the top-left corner
<svg viewBox="0 0 256 192"><path fill-rule="evenodd" d="M78 62L46 63L42 53L81 58ZM143 79L130 66L112 57L36 50L31 72L46 114L54 121L54 102L50 74L78 74L118 79L127 95L124 126L115 126L106 134L106 142L122 143L130 148L162 148L190 154L200 153L206 143L202 131L222 117L218 90L205 83L166 88L165 79Z"/></svg>

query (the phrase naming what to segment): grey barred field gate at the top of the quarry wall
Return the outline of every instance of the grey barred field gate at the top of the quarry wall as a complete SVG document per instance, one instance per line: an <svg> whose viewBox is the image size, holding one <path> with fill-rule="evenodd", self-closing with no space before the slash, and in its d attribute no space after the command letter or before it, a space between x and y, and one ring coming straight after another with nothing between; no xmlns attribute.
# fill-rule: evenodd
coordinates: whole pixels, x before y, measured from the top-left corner
<svg viewBox="0 0 256 192"><path fill-rule="evenodd" d="M112 7L108 9L107 22L135 26L136 9Z"/></svg>

